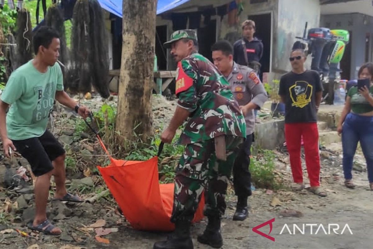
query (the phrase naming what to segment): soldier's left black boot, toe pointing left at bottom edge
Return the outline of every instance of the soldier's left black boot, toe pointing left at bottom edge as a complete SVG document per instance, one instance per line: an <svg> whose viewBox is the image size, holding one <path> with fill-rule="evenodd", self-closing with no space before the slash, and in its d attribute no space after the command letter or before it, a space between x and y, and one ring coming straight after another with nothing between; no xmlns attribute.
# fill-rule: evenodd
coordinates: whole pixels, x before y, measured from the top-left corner
<svg viewBox="0 0 373 249"><path fill-rule="evenodd" d="M175 231L167 236L166 241L154 243L153 249L193 249L190 222L175 222Z"/></svg>

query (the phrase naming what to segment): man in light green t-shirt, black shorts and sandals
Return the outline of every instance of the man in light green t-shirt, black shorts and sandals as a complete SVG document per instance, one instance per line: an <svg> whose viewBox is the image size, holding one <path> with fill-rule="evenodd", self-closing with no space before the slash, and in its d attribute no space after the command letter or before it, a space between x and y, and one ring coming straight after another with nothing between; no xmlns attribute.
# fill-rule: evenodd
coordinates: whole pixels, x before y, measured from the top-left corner
<svg viewBox="0 0 373 249"><path fill-rule="evenodd" d="M36 212L31 230L58 235L61 230L50 223L46 215L50 178L54 175L54 199L82 202L67 193L65 187L65 150L47 130L48 117L54 99L75 109L83 118L90 111L79 106L63 90L62 71L57 62L60 39L50 27L40 28L33 38L35 58L15 70L0 97L0 135L4 152L18 150L31 165L35 181ZM10 106L8 113L7 108Z"/></svg>

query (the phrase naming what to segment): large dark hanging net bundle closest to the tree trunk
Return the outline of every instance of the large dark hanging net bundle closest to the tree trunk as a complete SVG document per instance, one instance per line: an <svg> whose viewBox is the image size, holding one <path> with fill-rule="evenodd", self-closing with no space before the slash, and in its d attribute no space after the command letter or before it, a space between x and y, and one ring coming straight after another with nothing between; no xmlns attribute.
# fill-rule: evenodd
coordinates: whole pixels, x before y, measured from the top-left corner
<svg viewBox="0 0 373 249"><path fill-rule="evenodd" d="M97 0L76 1L71 37L70 90L91 91L91 83L104 98L109 97L109 59L103 12Z"/></svg>

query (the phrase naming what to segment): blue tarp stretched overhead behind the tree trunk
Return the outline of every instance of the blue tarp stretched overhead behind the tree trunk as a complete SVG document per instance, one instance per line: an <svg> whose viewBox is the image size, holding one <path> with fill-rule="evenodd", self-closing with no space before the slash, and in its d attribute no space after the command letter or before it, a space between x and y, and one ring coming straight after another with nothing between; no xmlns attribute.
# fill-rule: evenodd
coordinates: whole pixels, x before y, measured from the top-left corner
<svg viewBox="0 0 373 249"><path fill-rule="evenodd" d="M187 1L189 0L158 0L157 15L186 3ZM98 2L103 9L122 18L122 0L98 0Z"/></svg>

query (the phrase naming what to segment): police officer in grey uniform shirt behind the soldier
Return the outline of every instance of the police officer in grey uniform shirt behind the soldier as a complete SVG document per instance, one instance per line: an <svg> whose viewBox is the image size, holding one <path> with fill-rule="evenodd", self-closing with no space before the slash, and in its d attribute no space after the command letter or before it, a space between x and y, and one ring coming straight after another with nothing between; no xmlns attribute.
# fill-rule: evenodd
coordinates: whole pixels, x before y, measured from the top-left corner
<svg viewBox="0 0 373 249"><path fill-rule="evenodd" d="M218 41L211 51L215 66L228 80L245 115L247 137L233 166L233 183L238 197L233 220L243 221L248 216L247 198L251 195L249 165L251 144L254 141L254 109L260 109L268 97L254 70L233 61L233 47L228 41Z"/></svg>

